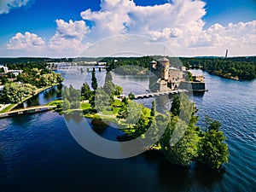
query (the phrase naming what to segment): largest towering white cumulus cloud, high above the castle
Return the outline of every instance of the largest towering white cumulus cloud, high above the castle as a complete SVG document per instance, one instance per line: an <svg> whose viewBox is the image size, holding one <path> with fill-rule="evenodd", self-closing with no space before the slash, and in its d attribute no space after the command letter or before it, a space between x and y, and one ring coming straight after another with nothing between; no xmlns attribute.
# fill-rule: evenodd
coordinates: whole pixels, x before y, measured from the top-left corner
<svg viewBox="0 0 256 192"><path fill-rule="evenodd" d="M154 6L138 6L129 0L102 0L99 11L81 13L84 20L92 20L94 38L134 33L165 40L181 36L183 32L198 33L204 26L206 14L201 1L178 1Z"/></svg>

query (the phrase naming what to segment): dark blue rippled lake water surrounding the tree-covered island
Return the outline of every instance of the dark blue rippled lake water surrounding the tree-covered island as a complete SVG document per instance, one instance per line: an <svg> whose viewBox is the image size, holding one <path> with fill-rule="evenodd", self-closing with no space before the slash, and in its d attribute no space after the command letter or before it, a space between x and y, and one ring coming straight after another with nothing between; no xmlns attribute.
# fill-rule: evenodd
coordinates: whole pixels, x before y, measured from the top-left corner
<svg viewBox="0 0 256 192"><path fill-rule="evenodd" d="M256 191L256 81L204 75L209 91L194 101L201 117L209 114L223 125L230 158L222 170L172 166L160 154L98 157L76 143L63 116L46 112L0 120L0 191ZM122 78L113 76L116 82ZM148 84L130 79L141 87L138 91ZM123 84L125 91L134 84ZM54 97L41 94L39 100ZM116 132L103 134L114 140Z"/></svg>

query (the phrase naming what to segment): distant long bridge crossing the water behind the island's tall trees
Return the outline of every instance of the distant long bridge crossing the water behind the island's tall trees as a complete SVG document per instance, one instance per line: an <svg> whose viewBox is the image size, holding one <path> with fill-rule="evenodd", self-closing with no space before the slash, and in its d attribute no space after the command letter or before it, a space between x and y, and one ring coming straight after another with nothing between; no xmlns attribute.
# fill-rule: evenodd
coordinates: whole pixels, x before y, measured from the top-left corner
<svg viewBox="0 0 256 192"><path fill-rule="evenodd" d="M79 63L72 63L72 62L55 62L55 63L49 63L47 68L50 71L55 71L55 70L79 70L81 72L84 72L86 70L87 72L91 70L98 69L101 71L102 69L108 68L108 66L105 65L96 65L96 63L93 64L79 64Z"/></svg>

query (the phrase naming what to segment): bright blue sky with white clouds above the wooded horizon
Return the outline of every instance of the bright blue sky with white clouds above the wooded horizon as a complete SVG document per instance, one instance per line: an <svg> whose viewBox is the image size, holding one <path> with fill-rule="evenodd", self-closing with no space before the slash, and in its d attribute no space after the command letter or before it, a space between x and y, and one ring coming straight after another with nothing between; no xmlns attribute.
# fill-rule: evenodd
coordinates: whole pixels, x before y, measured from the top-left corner
<svg viewBox="0 0 256 192"><path fill-rule="evenodd" d="M256 55L255 0L0 0L0 23L0 57Z"/></svg>

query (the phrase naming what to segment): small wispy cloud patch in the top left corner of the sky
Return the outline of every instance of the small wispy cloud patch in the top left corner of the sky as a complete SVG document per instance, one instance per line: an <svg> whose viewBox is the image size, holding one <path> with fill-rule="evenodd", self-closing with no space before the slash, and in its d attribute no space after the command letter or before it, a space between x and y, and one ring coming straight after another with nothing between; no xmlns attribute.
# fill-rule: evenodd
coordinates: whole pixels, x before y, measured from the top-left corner
<svg viewBox="0 0 256 192"><path fill-rule="evenodd" d="M11 9L25 6L29 0L1 0L0 1L0 15L8 14Z"/></svg>

